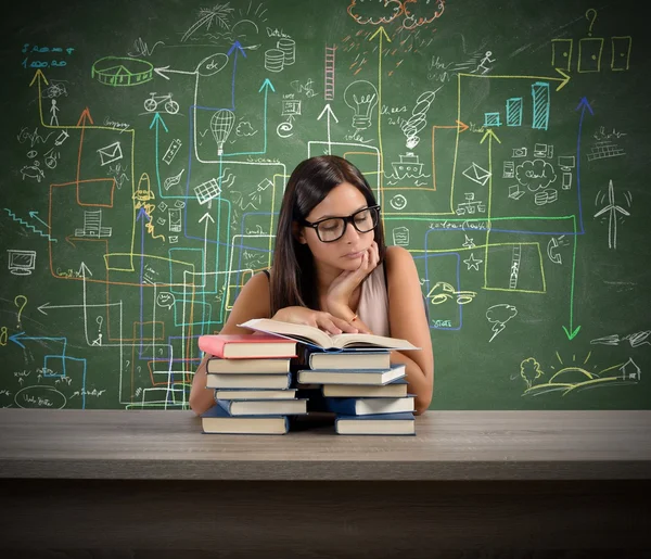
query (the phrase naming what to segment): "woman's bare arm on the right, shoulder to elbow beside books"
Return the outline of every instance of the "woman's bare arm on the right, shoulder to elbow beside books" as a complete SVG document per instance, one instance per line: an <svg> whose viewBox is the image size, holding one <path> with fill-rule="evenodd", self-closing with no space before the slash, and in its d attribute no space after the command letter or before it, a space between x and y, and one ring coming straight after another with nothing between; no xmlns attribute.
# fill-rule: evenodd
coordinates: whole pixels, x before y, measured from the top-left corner
<svg viewBox="0 0 651 559"><path fill-rule="evenodd" d="M388 323L392 338L409 340L419 351L392 352L392 364L405 364L408 392L416 394L416 414L423 414L432 402L434 390L434 354L430 325L416 263L401 246L386 250L388 283Z"/></svg>

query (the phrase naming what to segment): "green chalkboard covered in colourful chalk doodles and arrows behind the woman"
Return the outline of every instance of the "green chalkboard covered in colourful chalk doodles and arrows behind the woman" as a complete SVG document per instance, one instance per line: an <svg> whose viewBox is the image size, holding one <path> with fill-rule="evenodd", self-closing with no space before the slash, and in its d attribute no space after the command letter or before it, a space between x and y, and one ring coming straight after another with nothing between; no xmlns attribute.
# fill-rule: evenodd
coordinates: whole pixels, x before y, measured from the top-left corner
<svg viewBox="0 0 651 559"><path fill-rule="evenodd" d="M270 265L289 174L333 153L417 262L433 408L649 408L636 8L20 3L2 22L0 406L187 407L196 338Z"/></svg>

